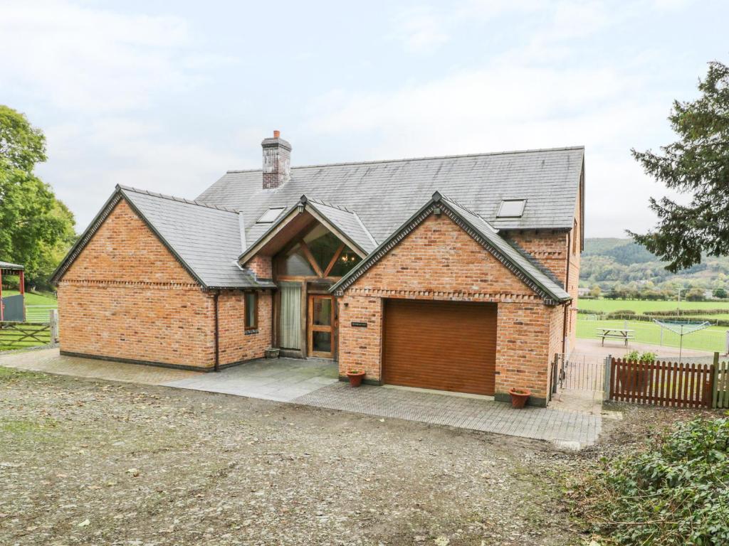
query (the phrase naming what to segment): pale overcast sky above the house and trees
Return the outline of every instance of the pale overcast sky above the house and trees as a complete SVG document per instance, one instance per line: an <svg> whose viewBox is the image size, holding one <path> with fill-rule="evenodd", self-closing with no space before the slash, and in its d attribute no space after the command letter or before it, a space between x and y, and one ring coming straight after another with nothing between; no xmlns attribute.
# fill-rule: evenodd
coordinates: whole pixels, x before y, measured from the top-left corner
<svg viewBox="0 0 729 546"><path fill-rule="evenodd" d="M3 1L0 103L81 231L117 183L196 197L260 167L586 146L587 236L665 191L629 150L729 60L729 2Z"/></svg>

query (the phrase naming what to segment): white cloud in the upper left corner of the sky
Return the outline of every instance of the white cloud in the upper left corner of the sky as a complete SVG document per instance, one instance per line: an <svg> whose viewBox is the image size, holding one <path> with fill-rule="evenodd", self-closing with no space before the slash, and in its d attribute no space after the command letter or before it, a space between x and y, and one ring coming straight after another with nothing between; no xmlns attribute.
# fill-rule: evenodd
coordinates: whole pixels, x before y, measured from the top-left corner
<svg viewBox="0 0 729 546"><path fill-rule="evenodd" d="M177 17L122 15L66 1L1 6L0 87L87 113L149 106L160 90L194 82L178 64L188 45Z"/></svg>

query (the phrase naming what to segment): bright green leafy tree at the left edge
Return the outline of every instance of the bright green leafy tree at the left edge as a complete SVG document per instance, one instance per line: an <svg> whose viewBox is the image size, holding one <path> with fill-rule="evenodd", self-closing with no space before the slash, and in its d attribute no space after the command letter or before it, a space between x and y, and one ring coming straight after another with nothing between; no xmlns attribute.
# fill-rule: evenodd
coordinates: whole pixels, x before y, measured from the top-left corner
<svg viewBox="0 0 729 546"><path fill-rule="evenodd" d="M47 282L74 240L74 216L34 175L45 137L23 114L0 105L0 259L26 266L28 283Z"/></svg>

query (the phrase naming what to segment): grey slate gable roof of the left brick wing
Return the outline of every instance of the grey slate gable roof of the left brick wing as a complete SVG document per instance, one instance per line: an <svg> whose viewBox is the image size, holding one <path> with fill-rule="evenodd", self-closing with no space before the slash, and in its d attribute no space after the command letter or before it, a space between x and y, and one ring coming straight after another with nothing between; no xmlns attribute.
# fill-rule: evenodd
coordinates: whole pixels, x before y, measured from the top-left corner
<svg viewBox="0 0 729 546"><path fill-rule="evenodd" d="M270 280L257 280L251 272L238 266L236 258L242 245L237 211L128 186L117 186L104 208L58 266L52 282L61 280L121 199L128 202L203 288L273 288Z"/></svg>

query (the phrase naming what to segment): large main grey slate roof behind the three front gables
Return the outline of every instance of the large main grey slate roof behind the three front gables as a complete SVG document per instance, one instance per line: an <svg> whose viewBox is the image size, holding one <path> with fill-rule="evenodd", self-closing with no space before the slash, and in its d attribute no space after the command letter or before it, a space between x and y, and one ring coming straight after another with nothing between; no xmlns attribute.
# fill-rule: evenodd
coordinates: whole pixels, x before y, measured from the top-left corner
<svg viewBox="0 0 729 546"><path fill-rule="evenodd" d="M262 188L260 169L231 170L198 201L242 210L249 244L268 230L256 223L262 213L288 208L303 194L354 211L376 241L389 237L434 191L467 204L498 230L569 230L584 152L577 146L292 167L291 180L276 189ZM502 199L526 199L523 215L496 218Z"/></svg>

